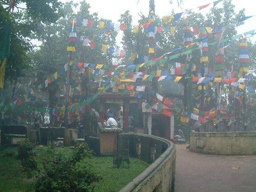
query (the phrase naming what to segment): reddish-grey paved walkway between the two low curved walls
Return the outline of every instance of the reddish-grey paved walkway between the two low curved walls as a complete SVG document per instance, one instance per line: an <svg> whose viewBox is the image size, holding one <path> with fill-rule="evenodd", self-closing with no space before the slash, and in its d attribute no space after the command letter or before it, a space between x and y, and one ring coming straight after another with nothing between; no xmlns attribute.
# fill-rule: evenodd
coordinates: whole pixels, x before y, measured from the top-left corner
<svg viewBox="0 0 256 192"><path fill-rule="evenodd" d="M256 191L256 156L205 155L177 144L176 192Z"/></svg>

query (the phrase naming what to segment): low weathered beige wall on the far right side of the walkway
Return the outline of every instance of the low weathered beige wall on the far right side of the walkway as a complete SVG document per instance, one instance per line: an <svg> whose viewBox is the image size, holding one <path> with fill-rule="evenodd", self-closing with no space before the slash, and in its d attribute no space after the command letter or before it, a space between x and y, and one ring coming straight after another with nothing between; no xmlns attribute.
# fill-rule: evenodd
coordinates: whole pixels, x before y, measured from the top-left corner
<svg viewBox="0 0 256 192"><path fill-rule="evenodd" d="M191 152L256 155L256 132L190 132Z"/></svg>

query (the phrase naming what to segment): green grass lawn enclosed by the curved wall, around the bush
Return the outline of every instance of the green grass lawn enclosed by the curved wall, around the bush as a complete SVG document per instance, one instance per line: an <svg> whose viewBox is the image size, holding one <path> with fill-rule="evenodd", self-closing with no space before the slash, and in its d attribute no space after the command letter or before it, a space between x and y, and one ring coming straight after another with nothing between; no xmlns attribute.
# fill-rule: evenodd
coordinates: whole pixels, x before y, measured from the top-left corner
<svg viewBox="0 0 256 192"><path fill-rule="evenodd" d="M67 147L56 148L67 154L71 150ZM14 153L14 157L8 155ZM46 146L37 146L36 159L39 162L42 155L47 153ZM131 158L130 168L113 168L112 157L95 157L89 159L94 171L103 179L95 183L95 191L118 191L137 177L148 166L142 160ZM86 160L82 163L86 163ZM40 164L39 164L40 166ZM0 147L0 191L33 191L34 181L27 179L20 160L17 159L17 147Z"/></svg>

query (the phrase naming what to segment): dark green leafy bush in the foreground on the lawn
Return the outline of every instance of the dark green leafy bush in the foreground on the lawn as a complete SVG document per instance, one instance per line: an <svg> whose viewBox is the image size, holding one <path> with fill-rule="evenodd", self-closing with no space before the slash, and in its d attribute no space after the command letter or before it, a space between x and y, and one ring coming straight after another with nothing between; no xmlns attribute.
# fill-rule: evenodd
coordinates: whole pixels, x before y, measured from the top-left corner
<svg viewBox="0 0 256 192"><path fill-rule="evenodd" d="M92 191L92 183L99 181L100 176L92 172L90 164L77 168L77 163L91 154L86 143L76 145L71 156L50 149L43 160L44 172L37 178L36 191Z"/></svg>

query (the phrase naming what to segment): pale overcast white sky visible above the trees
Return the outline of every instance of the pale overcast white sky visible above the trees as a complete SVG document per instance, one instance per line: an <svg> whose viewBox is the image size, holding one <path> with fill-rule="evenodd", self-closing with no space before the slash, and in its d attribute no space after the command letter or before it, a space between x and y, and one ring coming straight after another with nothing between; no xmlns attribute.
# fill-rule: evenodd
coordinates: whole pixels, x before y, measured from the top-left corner
<svg viewBox="0 0 256 192"><path fill-rule="evenodd" d="M182 12L185 9L195 8L201 5L205 5L217 0L183 0L181 8L177 5L177 0L173 0L173 4L169 3L169 0L155 0L155 12L160 17L170 15L172 9L175 13ZM61 0L61 2L68 2L67 0ZM80 0L74 0L75 3L81 2ZM133 24L137 24L137 20L140 18L138 13L143 13L148 15L149 10L149 0L87 0L91 5L90 12L98 12L100 18L111 19L114 23L120 17L120 14L129 10L133 16ZM256 1L255 0L232 0L232 3L236 6L236 12L245 8L245 15L255 15L256 14ZM222 7L222 3L219 3L217 7ZM201 12L207 13L212 5L201 10ZM256 16L249 18L245 21L243 26L238 27L238 33L247 32L256 29ZM256 40L256 35L250 38L253 42Z"/></svg>

